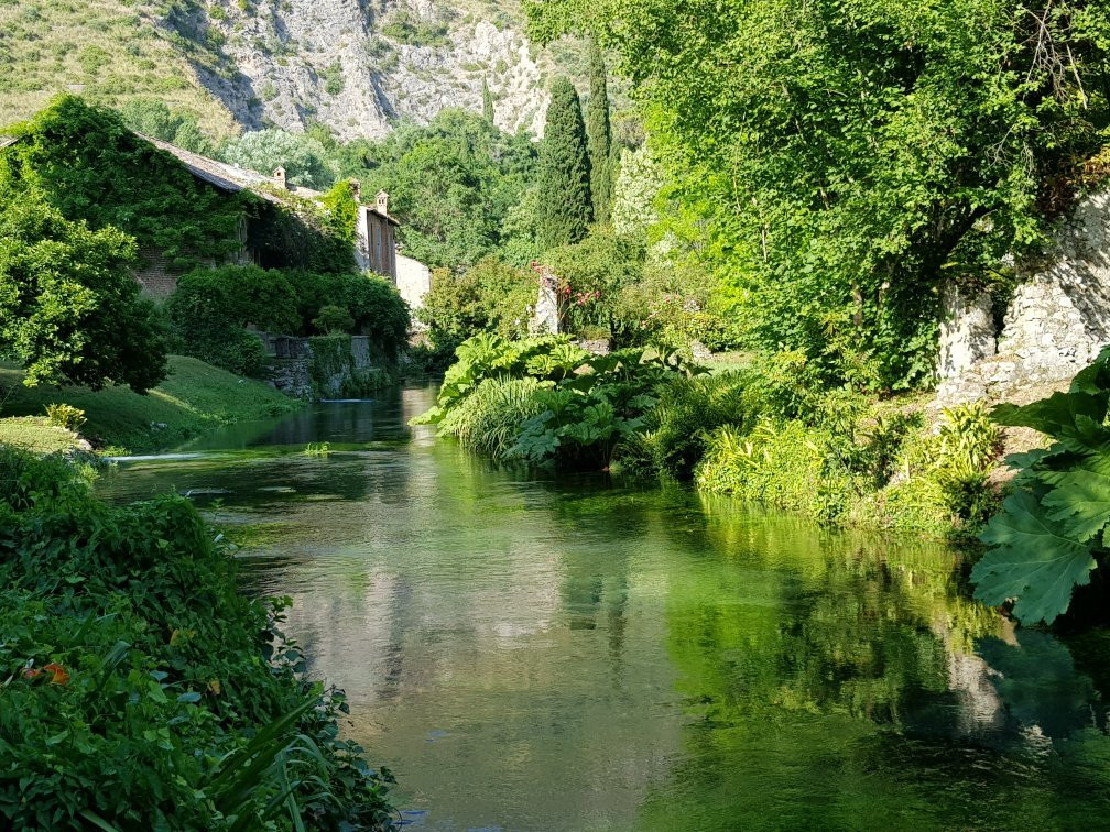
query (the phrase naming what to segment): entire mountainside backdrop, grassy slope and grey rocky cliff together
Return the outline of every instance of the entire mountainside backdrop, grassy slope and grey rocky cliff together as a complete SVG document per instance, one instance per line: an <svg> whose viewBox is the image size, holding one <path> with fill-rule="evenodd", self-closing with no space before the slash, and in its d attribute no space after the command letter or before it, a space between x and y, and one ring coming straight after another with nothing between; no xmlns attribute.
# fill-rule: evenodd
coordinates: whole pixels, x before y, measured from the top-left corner
<svg viewBox="0 0 1110 832"><path fill-rule="evenodd" d="M582 43L537 48L516 0L49 0L0 3L0 121L59 90L158 95L218 132L312 121L341 139L482 110L539 134L546 84L584 78ZM584 87L584 84L583 84Z"/></svg>

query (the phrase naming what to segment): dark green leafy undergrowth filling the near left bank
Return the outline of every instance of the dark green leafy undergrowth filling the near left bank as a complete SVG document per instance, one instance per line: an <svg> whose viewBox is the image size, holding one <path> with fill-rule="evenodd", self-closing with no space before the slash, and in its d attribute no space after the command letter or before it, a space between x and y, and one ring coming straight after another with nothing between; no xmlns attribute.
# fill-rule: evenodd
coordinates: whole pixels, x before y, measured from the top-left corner
<svg viewBox="0 0 1110 832"><path fill-rule="evenodd" d="M287 600L180 497L111 507L0 448L0 818L12 828L382 829L387 771L339 738Z"/></svg>

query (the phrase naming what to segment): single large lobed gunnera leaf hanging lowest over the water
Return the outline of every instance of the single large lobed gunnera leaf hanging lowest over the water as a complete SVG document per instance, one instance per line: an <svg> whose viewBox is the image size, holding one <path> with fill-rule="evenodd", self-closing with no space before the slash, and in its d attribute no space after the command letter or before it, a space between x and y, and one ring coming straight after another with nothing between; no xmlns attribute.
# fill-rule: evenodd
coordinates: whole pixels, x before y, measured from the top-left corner
<svg viewBox="0 0 1110 832"><path fill-rule="evenodd" d="M1090 545L1069 538L1028 491L1015 491L980 539L995 548L971 570L976 598L996 606L1017 599L1013 615L1023 623L1051 623L1096 567Z"/></svg>

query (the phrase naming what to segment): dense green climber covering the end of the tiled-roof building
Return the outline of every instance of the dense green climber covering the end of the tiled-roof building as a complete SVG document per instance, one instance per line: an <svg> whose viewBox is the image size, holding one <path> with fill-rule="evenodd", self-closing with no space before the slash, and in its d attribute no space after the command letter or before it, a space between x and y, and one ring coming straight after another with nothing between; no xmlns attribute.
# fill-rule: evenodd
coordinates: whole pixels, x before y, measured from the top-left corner
<svg viewBox="0 0 1110 832"><path fill-rule="evenodd" d="M114 111L61 95L12 130L22 138L0 151L0 205L37 191L70 221L114 226L186 262L239 248L251 197L199 182Z"/></svg>

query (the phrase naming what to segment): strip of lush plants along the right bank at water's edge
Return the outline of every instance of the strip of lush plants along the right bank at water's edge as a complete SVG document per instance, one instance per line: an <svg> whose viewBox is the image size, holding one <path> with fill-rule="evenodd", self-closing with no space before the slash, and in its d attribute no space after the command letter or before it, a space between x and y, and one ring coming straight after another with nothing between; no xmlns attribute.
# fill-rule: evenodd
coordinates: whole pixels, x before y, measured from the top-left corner
<svg viewBox="0 0 1110 832"><path fill-rule="evenodd" d="M804 359L710 375L673 353L567 338L465 342L418 422L502 461L694 480L819 521L967 535L997 507L981 406L945 412L807 384Z"/></svg>

